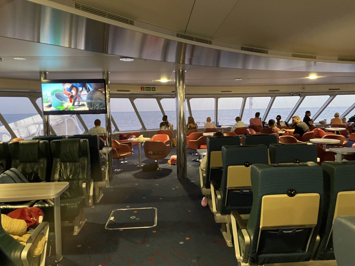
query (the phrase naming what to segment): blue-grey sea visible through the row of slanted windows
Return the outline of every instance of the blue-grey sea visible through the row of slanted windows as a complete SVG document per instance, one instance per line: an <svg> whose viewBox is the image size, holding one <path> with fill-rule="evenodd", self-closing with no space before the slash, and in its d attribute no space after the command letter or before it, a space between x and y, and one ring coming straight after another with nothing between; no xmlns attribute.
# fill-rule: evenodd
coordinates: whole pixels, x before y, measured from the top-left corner
<svg viewBox="0 0 355 266"><path fill-rule="evenodd" d="M315 115L315 113L318 111L319 107L301 107L299 108L295 115L299 115L301 120L305 116L305 111L309 110L311 111L311 117ZM329 122L333 117L335 112L339 112L342 114L344 111L348 109L348 106L338 106L338 107L327 107L326 110L321 113L320 116L316 119L316 123L318 121L327 119L327 122ZM244 111L242 121L245 122L246 124L249 123L249 119L251 117L254 117L255 112L260 112L261 115L260 117L262 120L268 121L269 119L275 119L277 115L280 115L282 117L282 120L285 120L289 113L291 112L292 108L272 108L271 111L269 112L269 115L267 117L263 117L263 114L265 112L265 109L253 109L252 110L252 116L250 116L249 109L246 109ZM229 110L218 110L218 121L219 124L222 126L232 126L235 123L235 117L239 116L239 109L229 109ZM176 127L176 112L175 111L166 111L165 114L168 116L168 121L174 125L174 128ZM18 120L34 116L36 115L35 113L26 113L26 114L3 114L5 120L8 123L13 123ZM138 120L138 117L135 112L112 112L111 113L113 119L115 120L117 126L119 127L120 131L133 131L133 130L140 130L141 129L141 123ZM347 119L350 118L350 116L354 115L353 112L350 113L347 117ZM144 125L146 126L147 129L157 129L159 128L160 122L162 122L162 112L160 111L141 111L140 116L144 122ZM186 115L186 120L187 120ZM214 121L214 110L192 110L192 116L195 119L195 122L198 123L200 126L203 126L203 123L206 122L206 117L211 117L212 121ZM104 126L104 121L105 121L105 115L100 114L100 115L82 115L82 118L84 122L86 123L88 128L92 128L94 126L94 120L95 119L100 119L102 122L102 126ZM83 126L81 123L78 121L79 127L81 128L82 131L84 131ZM2 123L0 122L0 126L2 126ZM114 131L115 128L113 124L111 124L112 130Z"/></svg>

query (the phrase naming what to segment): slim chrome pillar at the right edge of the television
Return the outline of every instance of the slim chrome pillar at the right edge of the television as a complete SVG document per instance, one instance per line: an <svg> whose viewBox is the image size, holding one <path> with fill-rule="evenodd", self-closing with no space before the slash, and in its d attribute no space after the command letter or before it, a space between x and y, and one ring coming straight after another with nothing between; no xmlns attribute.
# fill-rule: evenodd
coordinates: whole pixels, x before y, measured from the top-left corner
<svg viewBox="0 0 355 266"><path fill-rule="evenodd" d="M111 117L110 117L110 79L109 72L102 72L102 77L105 79L105 92L106 92L106 143L108 147L112 147L112 129L111 129ZM109 180L113 179L113 162L112 162L112 151L107 154L107 160L109 162Z"/></svg>

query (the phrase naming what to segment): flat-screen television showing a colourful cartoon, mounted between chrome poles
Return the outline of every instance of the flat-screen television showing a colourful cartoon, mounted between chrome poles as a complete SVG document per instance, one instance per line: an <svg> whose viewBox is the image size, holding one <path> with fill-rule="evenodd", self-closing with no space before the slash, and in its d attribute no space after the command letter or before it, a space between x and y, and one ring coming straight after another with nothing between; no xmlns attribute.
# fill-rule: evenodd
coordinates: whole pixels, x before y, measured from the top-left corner
<svg viewBox="0 0 355 266"><path fill-rule="evenodd" d="M106 113L105 79L42 81L44 115Z"/></svg>

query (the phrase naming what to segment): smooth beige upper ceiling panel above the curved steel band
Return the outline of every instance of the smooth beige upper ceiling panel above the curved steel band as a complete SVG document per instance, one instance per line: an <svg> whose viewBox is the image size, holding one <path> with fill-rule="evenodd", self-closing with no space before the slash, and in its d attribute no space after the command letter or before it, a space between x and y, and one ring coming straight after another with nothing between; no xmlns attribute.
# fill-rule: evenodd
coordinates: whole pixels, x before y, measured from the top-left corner
<svg viewBox="0 0 355 266"><path fill-rule="evenodd" d="M73 7L72 0L53 0ZM353 0L80 0L172 31L280 52L355 57Z"/></svg>

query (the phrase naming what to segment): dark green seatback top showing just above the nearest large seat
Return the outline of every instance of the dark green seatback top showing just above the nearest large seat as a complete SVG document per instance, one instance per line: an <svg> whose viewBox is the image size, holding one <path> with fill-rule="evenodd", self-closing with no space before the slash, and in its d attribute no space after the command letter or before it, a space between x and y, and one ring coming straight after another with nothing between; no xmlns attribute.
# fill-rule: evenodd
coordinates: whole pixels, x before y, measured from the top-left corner
<svg viewBox="0 0 355 266"><path fill-rule="evenodd" d="M269 155L272 164L317 162L317 147L305 143L270 144Z"/></svg>

